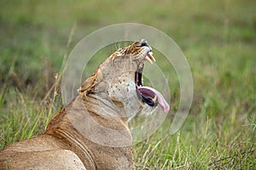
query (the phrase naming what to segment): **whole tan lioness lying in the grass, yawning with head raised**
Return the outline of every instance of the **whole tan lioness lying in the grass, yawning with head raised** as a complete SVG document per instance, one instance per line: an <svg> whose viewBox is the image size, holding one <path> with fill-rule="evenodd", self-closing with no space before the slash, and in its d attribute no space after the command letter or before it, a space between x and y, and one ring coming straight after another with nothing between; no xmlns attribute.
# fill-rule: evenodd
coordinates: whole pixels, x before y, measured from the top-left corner
<svg viewBox="0 0 256 170"><path fill-rule="evenodd" d="M1 169L134 169L127 122L139 111L169 105L143 87L144 61L155 61L140 40L113 53L79 88L79 94L33 139L0 153Z"/></svg>

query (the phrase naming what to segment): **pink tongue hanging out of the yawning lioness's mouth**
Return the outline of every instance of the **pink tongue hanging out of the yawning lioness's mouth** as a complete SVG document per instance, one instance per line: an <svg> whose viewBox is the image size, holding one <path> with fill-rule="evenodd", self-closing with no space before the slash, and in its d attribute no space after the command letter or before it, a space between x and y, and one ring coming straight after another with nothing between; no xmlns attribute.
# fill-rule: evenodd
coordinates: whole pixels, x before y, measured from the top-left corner
<svg viewBox="0 0 256 170"><path fill-rule="evenodd" d="M152 92L157 95L157 99L158 99L158 103L160 105L160 107L162 108L162 110L165 113L168 113L170 110L170 106L167 104L166 99L164 99L163 95L160 94L159 91L157 91L154 88L150 88L147 86L143 86L143 87L138 87L138 90L142 93L142 94L151 94Z"/></svg>

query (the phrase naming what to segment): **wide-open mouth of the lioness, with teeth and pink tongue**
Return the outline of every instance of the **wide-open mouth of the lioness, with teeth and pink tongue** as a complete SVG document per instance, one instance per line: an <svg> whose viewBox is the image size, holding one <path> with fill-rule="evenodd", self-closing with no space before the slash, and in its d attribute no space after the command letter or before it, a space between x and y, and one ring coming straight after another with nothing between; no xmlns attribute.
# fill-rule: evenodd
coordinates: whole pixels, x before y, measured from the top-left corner
<svg viewBox="0 0 256 170"><path fill-rule="evenodd" d="M154 88L143 86L143 66L145 60L148 60L148 62L151 64L153 64L153 61L155 62L151 51L146 54L143 61L137 66L137 71L135 73L135 82L138 98L142 99L144 103L152 107L160 105L162 110L165 113L168 113L170 110L170 106L167 104L166 99L164 99L163 95Z"/></svg>

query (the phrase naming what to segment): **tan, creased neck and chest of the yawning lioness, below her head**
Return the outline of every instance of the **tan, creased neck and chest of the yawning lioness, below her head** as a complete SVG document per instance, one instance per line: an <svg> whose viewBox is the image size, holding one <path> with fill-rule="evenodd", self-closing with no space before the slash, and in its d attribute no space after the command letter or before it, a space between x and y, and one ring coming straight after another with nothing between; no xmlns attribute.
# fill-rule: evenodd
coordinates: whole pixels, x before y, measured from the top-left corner
<svg viewBox="0 0 256 170"><path fill-rule="evenodd" d="M65 141L63 149L72 150L84 165L96 169L109 166L109 169L131 169L133 156L127 123L119 116L106 114L118 111L115 106L108 105L106 99L99 98L94 94L86 98L78 95L49 122L46 133ZM116 159L106 160L108 157Z"/></svg>

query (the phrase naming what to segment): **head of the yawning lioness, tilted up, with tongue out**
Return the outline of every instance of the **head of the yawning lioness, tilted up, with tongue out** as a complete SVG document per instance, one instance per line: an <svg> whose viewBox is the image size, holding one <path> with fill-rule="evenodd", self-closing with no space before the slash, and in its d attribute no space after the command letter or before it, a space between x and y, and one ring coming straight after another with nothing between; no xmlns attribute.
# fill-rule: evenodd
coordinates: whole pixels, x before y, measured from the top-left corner
<svg viewBox="0 0 256 170"><path fill-rule="evenodd" d="M79 91L85 98L96 95L111 101L119 116L129 119L139 111L150 114L158 105L167 113L169 105L163 96L154 88L143 86L146 60L151 64L155 61L152 48L143 39L120 48L85 80Z"/></svg>

